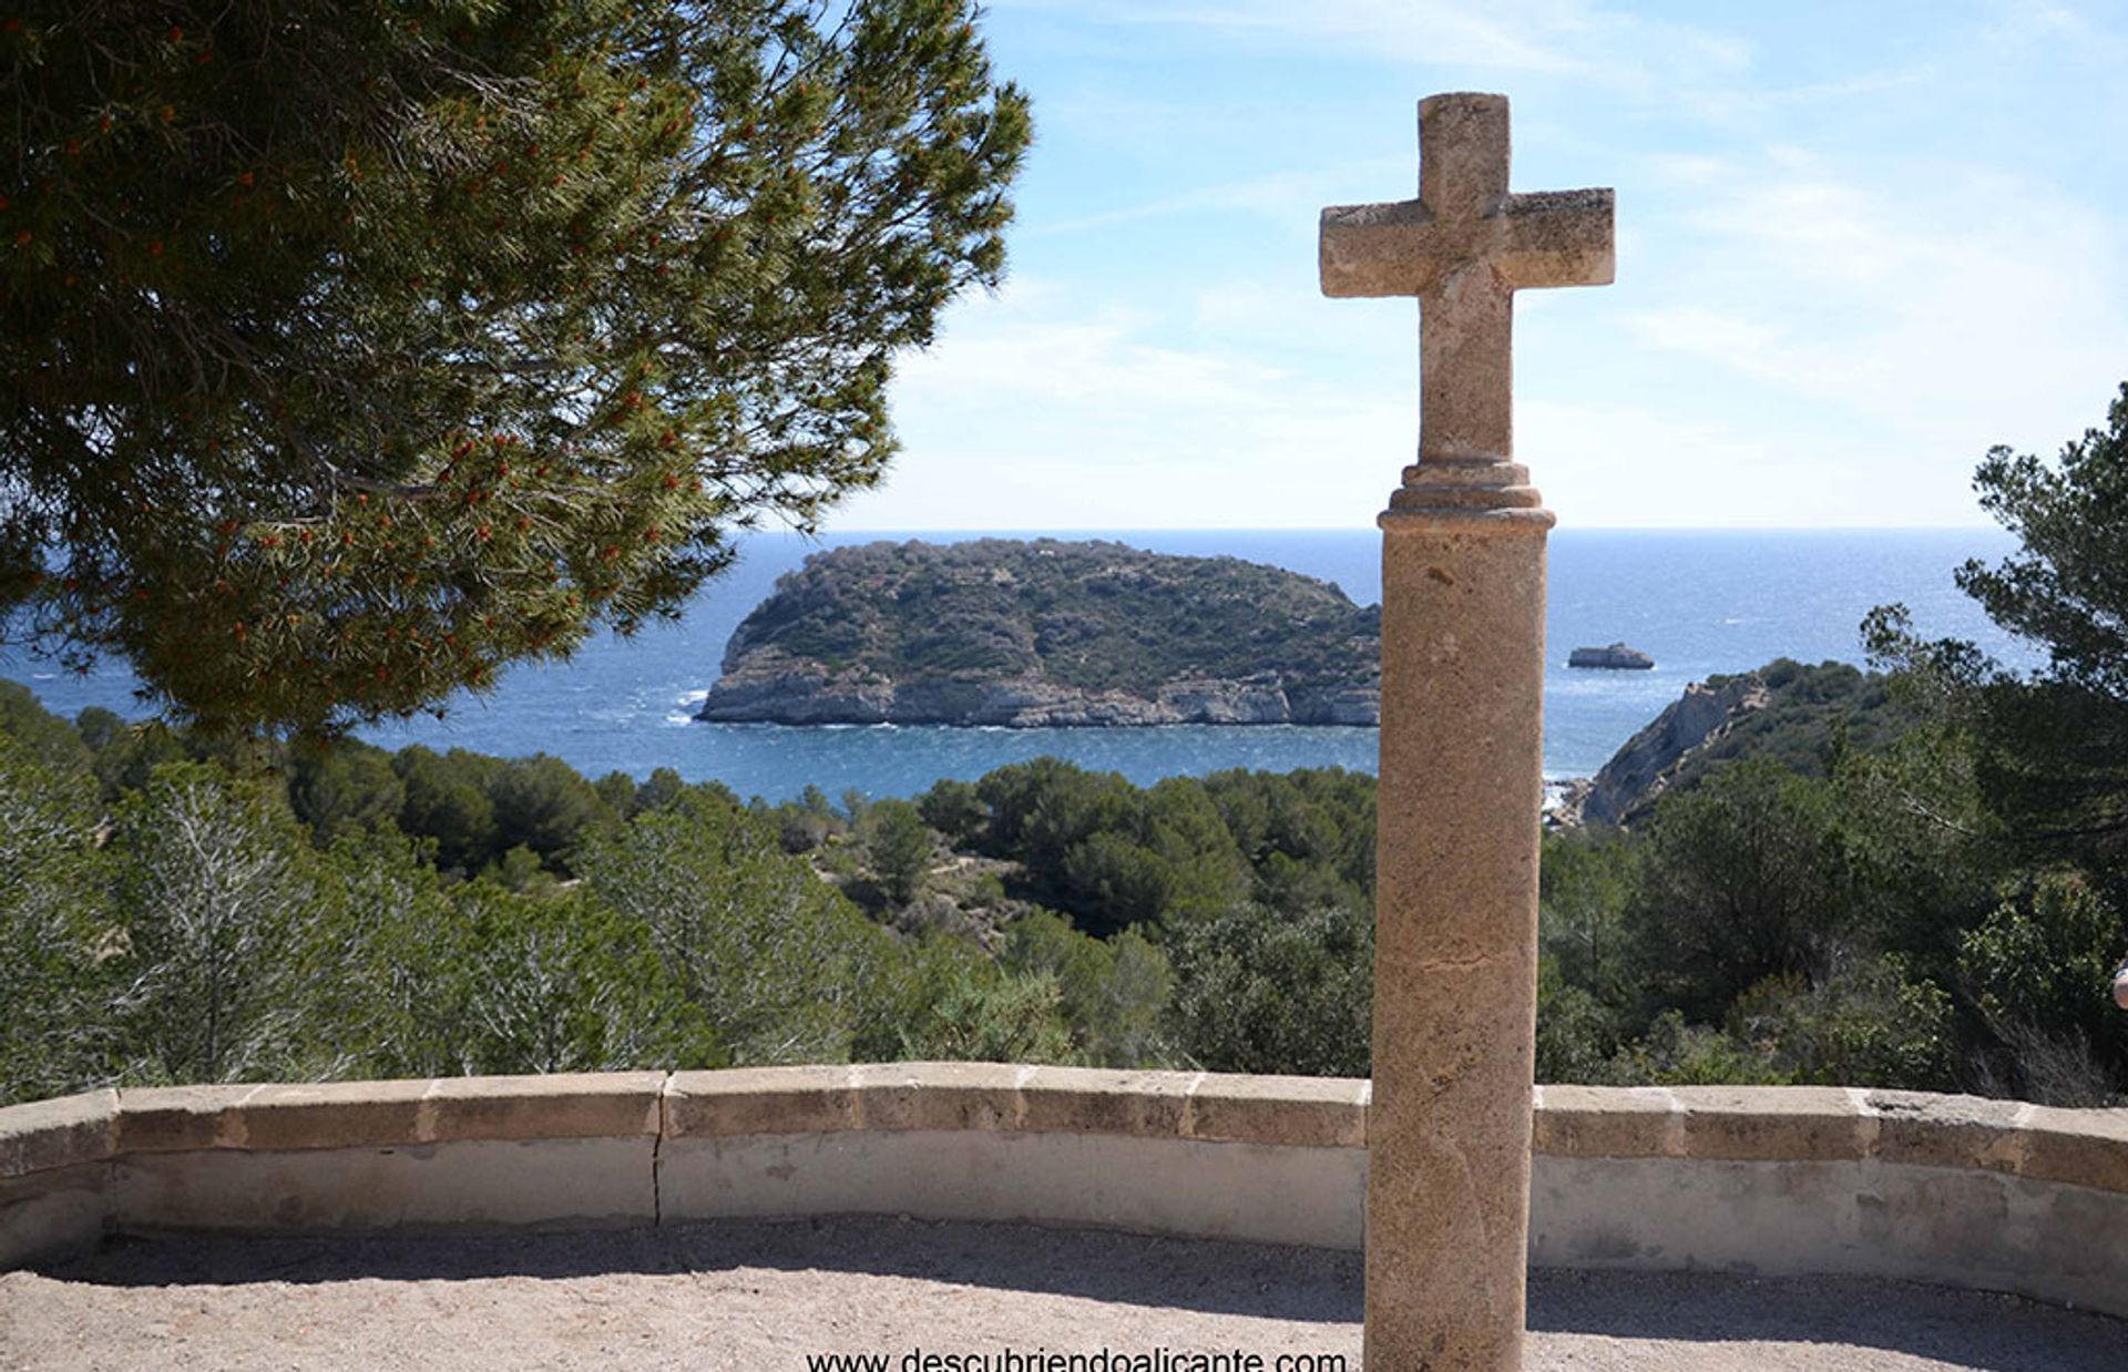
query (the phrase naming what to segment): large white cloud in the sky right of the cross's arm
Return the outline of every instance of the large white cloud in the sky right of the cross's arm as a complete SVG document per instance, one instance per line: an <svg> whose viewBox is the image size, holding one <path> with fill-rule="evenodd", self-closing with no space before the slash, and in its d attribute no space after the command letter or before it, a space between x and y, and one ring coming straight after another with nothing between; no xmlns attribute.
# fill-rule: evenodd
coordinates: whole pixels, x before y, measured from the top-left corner
<svg viewBox="0 0 2128 1372"><path fill-rule="evenodd" d="M1779 157L1707 196L1670 238L1666 302L1626 323L1826 406L1828 430L1964 470L1985 442L2051 449L2096 417L2128 355L2117 242L2096 211L2000 172L1885 189Z"/></svg>

